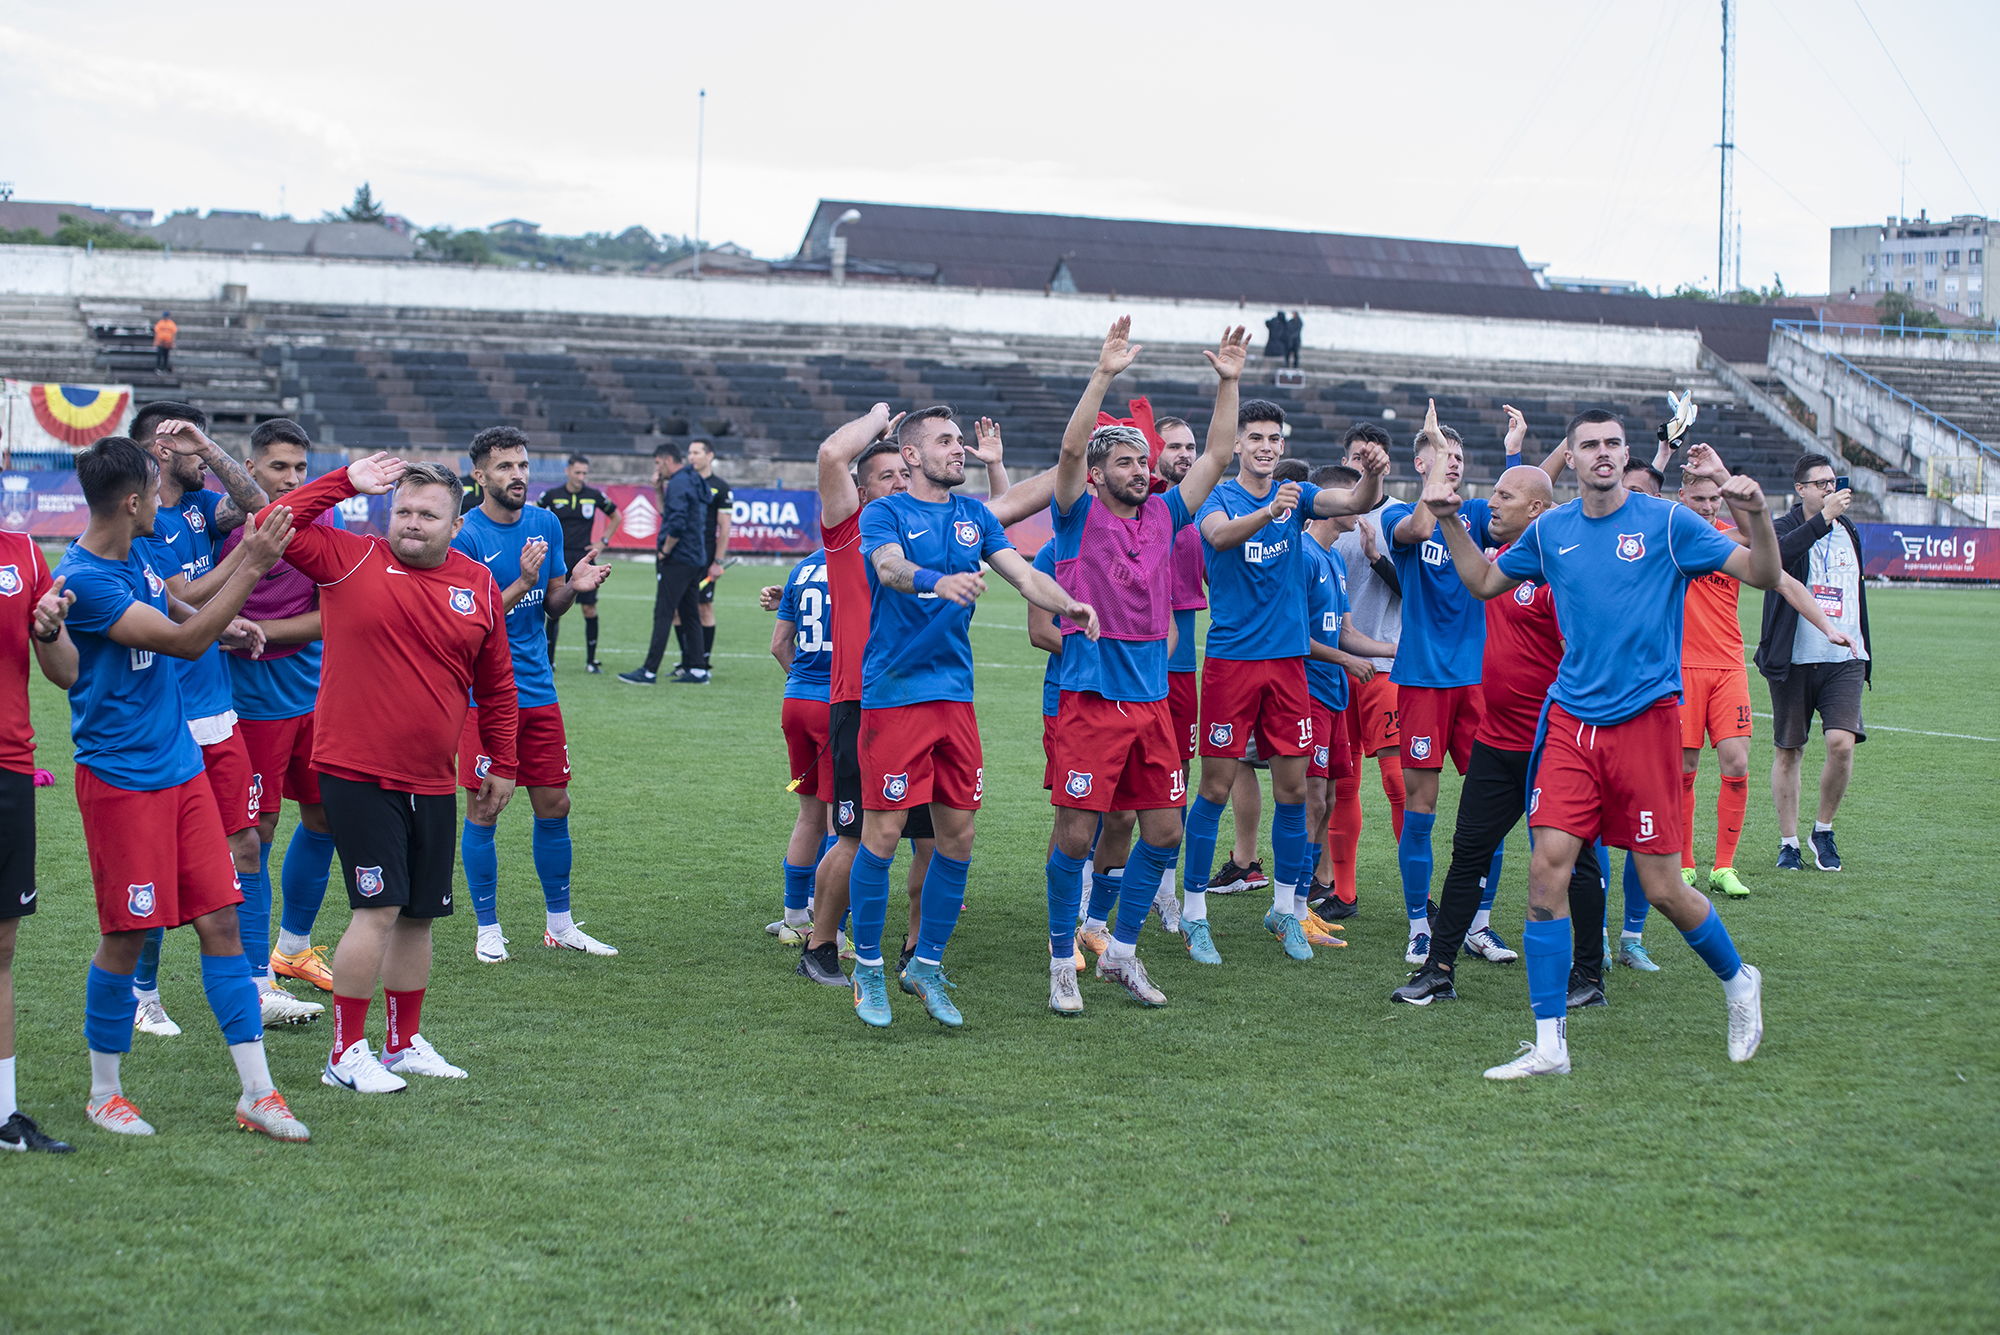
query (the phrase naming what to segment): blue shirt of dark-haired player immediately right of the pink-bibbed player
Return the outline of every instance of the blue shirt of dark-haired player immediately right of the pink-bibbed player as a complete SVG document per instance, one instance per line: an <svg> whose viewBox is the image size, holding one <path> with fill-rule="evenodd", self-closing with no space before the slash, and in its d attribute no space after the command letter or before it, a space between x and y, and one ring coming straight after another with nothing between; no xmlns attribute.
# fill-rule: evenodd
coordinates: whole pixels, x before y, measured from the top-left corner
<svg viewBox="0 0 2000 1335"><path fill-rule="evenodd" d="M1276 488L1278 484L1272 484ZM1202 538L1208 566L1208 658L1266 662L1306 656L1306 520L1320 488L1298 484L1298 506L1250 536L1230 552L1216 552ZM1236 478L1220 484L1194 516L1202 524L1212 514L1228 520L1264 508Z"/></svg>

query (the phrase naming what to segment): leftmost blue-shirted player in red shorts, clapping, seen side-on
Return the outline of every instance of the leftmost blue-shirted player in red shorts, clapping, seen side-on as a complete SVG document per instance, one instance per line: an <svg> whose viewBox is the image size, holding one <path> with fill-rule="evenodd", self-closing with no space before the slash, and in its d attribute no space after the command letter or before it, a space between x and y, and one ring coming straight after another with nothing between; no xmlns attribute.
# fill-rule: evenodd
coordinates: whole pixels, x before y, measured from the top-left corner
<svg viewBox="0 0 2000 1335"><path fill-rule="evenodd" d="M76 480L90 522L56 574L76 596L66 618L78 658L70 733L102 931L84 987L84 1111L106 1131L152 1135L118 1073L138 1009L132 971L148 929L194 923L202 989L242 1079L236 1123L304 1141L306 1127L272 1085L264 1057L258 987L238 935L242 889L202 749L188 731L182 673L160 662L194 662L224 634L232 644L256 642L236 614L284 554L292 516L284 506L266 508L222 588L196 610L168 592L156 558L144 552L160 502L158 460L126 436L106 436L76 454Z"/></svg>

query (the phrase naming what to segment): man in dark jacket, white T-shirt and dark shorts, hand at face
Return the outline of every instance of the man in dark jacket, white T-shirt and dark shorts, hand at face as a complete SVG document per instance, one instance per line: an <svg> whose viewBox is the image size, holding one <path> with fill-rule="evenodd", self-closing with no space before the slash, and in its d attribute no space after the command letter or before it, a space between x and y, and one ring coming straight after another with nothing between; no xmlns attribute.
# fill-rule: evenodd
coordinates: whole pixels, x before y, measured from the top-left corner
<svg viewBox="0 0 2000 1335"><path fill-rule="evenodd" d="M1820 715L1826 767L1820 769L1820 815L1812 823L1812 865L1840 871L1834 847L1834 811L1854 773L1854 745L1862 727L1862 685L1870 679L1868 588L1862 578L1862 536L1848 522L1850 490L1834 490L1834 462L1824 454L1800 456L1792 468L1798 506L1774 522L1784 574L1808 590L1826 620L1860 646L1836 646L1776 592L1764 594L1764 634L1756 666L1770 683L1772 731L1778 745L1770 765L1770 797L1778 805L1778 867L1806 867L1798 847L1798 769L1806 757L1806 731Z"/></svg>

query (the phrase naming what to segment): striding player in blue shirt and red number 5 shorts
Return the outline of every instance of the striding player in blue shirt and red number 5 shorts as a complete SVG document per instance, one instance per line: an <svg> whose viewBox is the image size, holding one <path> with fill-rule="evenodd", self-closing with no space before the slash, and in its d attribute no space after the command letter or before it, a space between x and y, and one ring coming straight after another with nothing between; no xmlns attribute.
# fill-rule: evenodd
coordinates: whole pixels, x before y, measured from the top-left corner
<svg viewBox="0 0 2000 1335"><path fill-rule="evenodd" d="M1578 414L1568 442L1582 496L1538 516L1498 562L1488 562L1464 528L1440 526L1474 596L1500 598L1528 580L1550 586L1564 640L1528 779L1534 859L1524 953L1536 1039L1486 1075L1570 1069L1564 1013L1572 941L1562 919L1570 873L1596 837L1636 853L1646 899L1722 979L1730 1061L1748 1061L1764 1037L1762 975L1736 953L1714 905L1678 875L1680 610L1688 580L1710 570L1760 590L1776 586L1778 538L1750 478L1722 488L1748 548L1686 506L1628 492L1616 414ZM1440 476L1424 488L1424 506L1448 518L1460 500Z"/></svg>

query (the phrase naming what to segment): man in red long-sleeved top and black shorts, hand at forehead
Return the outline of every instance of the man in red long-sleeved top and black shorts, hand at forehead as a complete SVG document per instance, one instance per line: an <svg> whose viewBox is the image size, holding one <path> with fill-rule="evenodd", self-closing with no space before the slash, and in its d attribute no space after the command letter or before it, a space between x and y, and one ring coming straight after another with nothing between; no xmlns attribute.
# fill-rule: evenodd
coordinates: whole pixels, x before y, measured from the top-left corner
<svg viewBox="0 0 2000 1335"><path fill-rule="evenodd" d="M386 492L388 538L312 524L350 496ZM452 913L468 699L504 701L478 715L480 751L492 755L480 799L492 811L514 795L516 717L500 590L452 550L458 494L450 468L372 454L286 498L298 530L286 560L320 586L312 767L354 909L334 951L334 1051L320 1075L338 1089L390 1093L410 1073L466 1075L418 1033L430 923ZM376 979L388 1001L380 1059L362 1035Z"/></svg>

